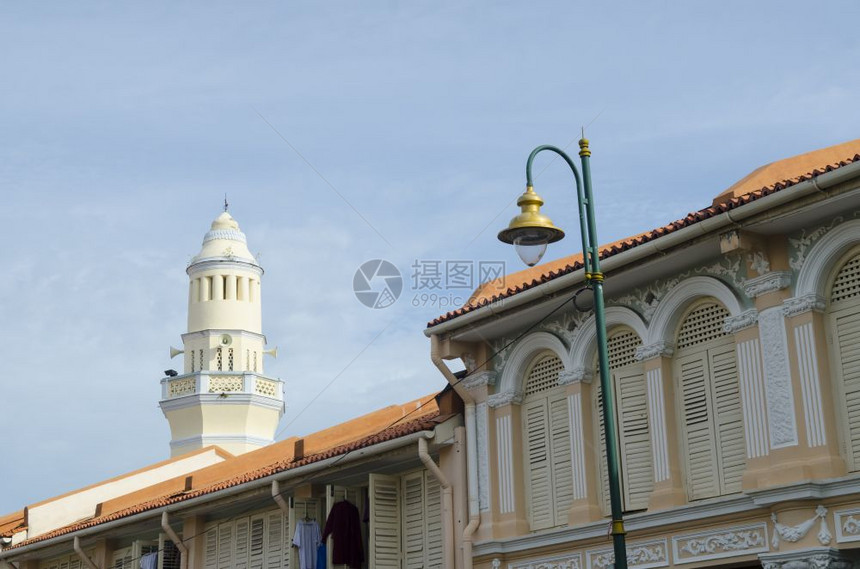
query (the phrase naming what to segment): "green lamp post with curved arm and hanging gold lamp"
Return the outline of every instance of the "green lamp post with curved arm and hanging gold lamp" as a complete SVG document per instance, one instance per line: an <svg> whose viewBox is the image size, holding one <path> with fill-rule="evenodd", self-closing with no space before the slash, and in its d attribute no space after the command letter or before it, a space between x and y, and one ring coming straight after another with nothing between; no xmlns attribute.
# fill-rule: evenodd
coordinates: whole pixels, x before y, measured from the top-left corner
<svg viewBox="0 0 860 569"><path fill-rule="evenodd" d="M597 327L597 354L600 363L600 389L603 392L603 425L606 430L606 462L609 473L609 501L612 507L612 545L615 551L615 568L627 569L627 550L624 543L624 520L621 506L621 473L618 464L618 434L615 430L615 408L612 385L609 377L609 353L606 349L606 318L603 306L603 273L600 272L597 228L594 221L594 200L591 193L591 151L588 140L579 141L579 157L582 162L582 177L570 156L558 147L538 146L526 162L526 191L517 200L521 213L511 220L507 229L499 232L499 240L513 244L517 254L529 266L536 265L549 243L564 237L564 231L541 214L543 200L532 184L532 162L540 152L549 150L558 154L573 172L579 204L579 229L582 237L582 263L585 267L585 282L594 291L594 321ZM583 183L584 182L584 183Z"/></svg>

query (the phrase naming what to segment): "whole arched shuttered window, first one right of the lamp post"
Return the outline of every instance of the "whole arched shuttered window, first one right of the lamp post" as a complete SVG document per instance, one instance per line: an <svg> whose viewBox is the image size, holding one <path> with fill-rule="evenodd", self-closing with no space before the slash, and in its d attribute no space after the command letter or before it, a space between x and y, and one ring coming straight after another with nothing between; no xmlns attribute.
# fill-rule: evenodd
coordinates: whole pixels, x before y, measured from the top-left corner
<svg viewBox="0 0 860 569"><path fill-rule="evenodd" d="M734 338L723 330L727 316L722 304L704 299L678 328L674 376L690 500L741 490L744 426Z"/></svg>

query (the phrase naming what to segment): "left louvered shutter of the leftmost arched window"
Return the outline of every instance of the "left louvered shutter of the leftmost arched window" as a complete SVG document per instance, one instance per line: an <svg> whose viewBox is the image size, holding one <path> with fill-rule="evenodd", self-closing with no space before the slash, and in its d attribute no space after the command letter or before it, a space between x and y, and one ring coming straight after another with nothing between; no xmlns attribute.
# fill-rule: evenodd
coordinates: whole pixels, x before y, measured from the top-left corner
<svg viewBox="0 0 860 569"><path fill-rule="evenodd" d="M534 531L552 527L555 521L546 399L524 403L522 417L526 444L526 475L528 476L526 492L530 506L529 524Z"/></svg>

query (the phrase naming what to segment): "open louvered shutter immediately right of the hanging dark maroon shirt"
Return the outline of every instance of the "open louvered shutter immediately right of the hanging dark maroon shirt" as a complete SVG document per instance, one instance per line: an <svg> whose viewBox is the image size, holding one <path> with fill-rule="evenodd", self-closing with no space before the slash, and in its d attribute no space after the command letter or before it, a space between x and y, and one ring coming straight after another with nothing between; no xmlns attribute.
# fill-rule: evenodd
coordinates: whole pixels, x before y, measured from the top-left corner
<svg viewBox="0 0 860 569"><path fill-rule="evenodd" d="M370 569L400 569L400 479L370 475Z"/></svg>

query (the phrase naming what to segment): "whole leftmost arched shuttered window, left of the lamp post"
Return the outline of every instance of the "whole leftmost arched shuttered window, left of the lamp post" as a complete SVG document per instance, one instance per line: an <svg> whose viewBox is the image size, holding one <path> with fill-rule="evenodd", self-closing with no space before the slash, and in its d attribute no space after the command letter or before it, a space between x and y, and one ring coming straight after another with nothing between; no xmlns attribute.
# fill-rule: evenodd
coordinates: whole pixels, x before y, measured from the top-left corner
<svg viewBox="0 0 860 569"><path fill-rule="evenodd" d="M526 500L533 531L567 524L573 500L570 412L558 385L563 369L558 356L544 352L529 367L523 389Z"/></svg>

